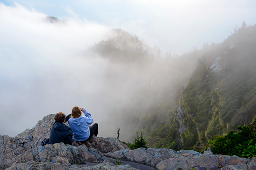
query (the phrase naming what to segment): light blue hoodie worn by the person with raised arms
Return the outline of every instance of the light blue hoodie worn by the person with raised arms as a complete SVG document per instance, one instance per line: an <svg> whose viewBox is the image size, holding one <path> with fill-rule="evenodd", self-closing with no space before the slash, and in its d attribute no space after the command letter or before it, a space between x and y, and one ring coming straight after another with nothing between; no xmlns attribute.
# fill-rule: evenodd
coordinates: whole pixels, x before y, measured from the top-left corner
<svg viewBox="0 0 256 170"><path fill-rule="evenodd" d="M79 118L70 118L69 125L73 131L73 138L77 141L87 140L90 136L90 125L93 123L93 119L87 110L83 111L85 117L81 115Z"/></svg>

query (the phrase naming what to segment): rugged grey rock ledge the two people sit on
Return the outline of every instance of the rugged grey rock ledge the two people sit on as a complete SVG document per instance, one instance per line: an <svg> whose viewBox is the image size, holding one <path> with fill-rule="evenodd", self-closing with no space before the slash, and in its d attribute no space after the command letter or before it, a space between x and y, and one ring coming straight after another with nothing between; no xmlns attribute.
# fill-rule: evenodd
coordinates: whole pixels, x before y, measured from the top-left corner
<svg viewBox="0 0 256 170"><path fill-rule="evenodd" d="M16 137L0 136L0 169L256 169L254 157L216 155L210 149L203 154L166 148L131 150L113 137L41 146L53 118L54 114L43 117Z"/></svg>

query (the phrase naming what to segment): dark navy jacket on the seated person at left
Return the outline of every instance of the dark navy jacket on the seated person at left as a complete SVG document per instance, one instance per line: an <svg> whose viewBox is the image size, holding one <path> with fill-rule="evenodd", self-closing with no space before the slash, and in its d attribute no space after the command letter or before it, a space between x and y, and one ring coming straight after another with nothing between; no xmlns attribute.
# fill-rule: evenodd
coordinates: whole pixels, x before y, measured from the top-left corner
<svg viewBox="0 0 256 170"><path fill-rule="evenodd" d="M70 115L66 116L66 122ZM54 144L63 142L64 144L72 145L73 132L69 126L64 123L54 122L50 131L50 140L46 144Z"/></svg>

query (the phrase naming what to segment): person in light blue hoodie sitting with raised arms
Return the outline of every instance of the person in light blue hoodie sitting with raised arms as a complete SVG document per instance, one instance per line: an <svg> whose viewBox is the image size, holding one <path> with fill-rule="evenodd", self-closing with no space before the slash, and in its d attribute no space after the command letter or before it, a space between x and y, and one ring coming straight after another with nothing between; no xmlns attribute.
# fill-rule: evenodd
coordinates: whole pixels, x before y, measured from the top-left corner
<svg viewBox="0 0 256 170"><path fill-rule="evenodd" d="M85 116L82 115L82 112ZM78 106L73 107L72 113L69 119L70 128L73 131L73 138L77 141L85 141L92 137L92 135L98 135L98 124L93 123L91 114L84 108ZM90 127L91 126L91 127Z"/></svg>

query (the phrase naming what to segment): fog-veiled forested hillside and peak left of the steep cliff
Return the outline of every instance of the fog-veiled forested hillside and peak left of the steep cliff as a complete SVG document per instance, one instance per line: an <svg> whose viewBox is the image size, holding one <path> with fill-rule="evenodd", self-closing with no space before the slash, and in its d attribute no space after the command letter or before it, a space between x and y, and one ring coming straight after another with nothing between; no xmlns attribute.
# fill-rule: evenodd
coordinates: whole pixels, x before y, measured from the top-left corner
<svg viewBox="0 0 256 170"><path fill-rule="evenodd" d="M115 90L109 89L113 97L120 86L133 85L123 96L126 102L106 113L108 118L101 122L102 130L117 136L116 130L120 128L119 139L125 142L133 142L136 131L143 131L148 146L180 148L176 112L181 92L198 58L218 45L207 43L201 50L174 56L125 31L113 30L111 34L91 50L110 62L111 69L105 75L106 83L116 86Z"/></svg>

